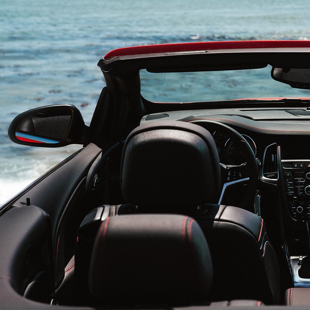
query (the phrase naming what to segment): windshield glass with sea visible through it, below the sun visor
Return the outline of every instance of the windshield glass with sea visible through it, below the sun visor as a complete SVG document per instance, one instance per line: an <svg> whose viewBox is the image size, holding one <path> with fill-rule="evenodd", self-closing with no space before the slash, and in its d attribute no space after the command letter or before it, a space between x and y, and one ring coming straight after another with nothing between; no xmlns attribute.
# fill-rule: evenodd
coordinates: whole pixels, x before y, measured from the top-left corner
<svg viewBox="0 0 310 310"><path fill-rule="evenodd" d="M177 73L150 73L144 69L140 70L141 95L153 102L310 97L310 90L273 80L271 68Z"/></svg>

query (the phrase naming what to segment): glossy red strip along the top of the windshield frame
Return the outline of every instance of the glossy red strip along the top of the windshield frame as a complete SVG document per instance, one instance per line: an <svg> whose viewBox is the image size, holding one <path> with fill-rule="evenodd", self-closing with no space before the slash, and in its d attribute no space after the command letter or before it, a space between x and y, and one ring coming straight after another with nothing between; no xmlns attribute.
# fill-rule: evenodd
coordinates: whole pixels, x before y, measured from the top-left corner
<svg viewBox="0 0 310 310"><path fill-rule="evenodd" d="M181 51L220 50L235 48L283 48L283 47L310 47L310 41L302 40L269 40L269 41L214 41L194 43L156 44L133 47L122 47L108 52L104 59L115 56L153 54Z"/></svg>

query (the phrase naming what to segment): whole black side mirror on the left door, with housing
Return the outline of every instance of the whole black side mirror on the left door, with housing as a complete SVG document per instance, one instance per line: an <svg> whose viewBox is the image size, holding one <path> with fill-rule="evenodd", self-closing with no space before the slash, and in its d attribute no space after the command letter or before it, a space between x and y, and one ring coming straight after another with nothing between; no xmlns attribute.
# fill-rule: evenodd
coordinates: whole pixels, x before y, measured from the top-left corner
<svg viewBox="0 0 310 310"><path fill-rule="evenodd" d="M77 107L55 104L17 115L11 122L8 137L17 144L57 148L84 144L87 129Z"/></svg>

